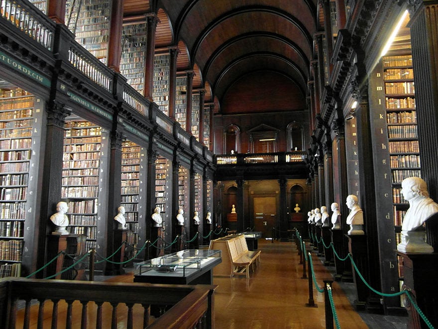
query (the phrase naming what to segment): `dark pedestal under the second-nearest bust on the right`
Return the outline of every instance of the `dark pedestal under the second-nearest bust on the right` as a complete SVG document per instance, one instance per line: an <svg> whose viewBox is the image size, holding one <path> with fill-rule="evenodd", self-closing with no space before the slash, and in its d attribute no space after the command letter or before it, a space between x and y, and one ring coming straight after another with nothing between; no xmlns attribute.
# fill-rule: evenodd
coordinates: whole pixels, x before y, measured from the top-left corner
<svg viewBox="0 0 438 329"><path fill-rule="evenodd" d="M367 256L367 242L365 235L347 235L348 237L348 251L351 254L357 269L362 274L366 282L369 282L368 274L368 256ZM363 283L357 274L353 264L351 264L351 271L353 273L353 282L356 286L357 300L354 302L357 310L365 310L366 301L369 295L368 287Z"/></svg>

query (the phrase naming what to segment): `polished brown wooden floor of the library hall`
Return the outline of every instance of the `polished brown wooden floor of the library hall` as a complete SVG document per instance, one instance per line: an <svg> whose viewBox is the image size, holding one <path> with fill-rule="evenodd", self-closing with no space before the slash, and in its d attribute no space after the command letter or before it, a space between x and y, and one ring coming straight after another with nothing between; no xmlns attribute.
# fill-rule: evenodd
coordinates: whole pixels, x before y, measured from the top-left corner
<svg viewBox="0 0 438 329"><path fill-rule="evenodd" d="M218 285L215 293L216 328L325 328L324 295L314 288L314 299L318 307L306 307L309 286L307 280L301 279L303 266L299 264L295 244L259 240L259 249L262 251L261 264L254 273L251 272L249 279L240 276L214 278L214 284ZM322 287L323 279L331 279L331 276L316 256L313 259L317 281ZM127 273L106 281L132 282L132 279L132 273ZM333 299L341 328L368 328L337 283L333 283ZM65 317L63 312L65 310L60 308L60 319ZM80 328L80 316L75 318L77 323L73 328ZM118 320L117 328L125 328L124 319Z"/></svg>

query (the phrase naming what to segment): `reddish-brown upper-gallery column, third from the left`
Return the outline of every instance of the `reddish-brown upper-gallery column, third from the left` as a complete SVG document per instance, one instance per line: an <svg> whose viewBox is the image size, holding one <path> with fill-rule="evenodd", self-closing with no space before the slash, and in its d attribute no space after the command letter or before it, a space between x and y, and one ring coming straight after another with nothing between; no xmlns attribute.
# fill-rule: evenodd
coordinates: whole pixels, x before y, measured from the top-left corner
<svg viewBox="0 0 438 329"><path fill-rule="evenodd" d="M155 55L155 31L157 30L158 17L153 14L147 16L147 43L146 59L144 63L144 91L143 95L152 99L154 91L154 55Z"/></svg>

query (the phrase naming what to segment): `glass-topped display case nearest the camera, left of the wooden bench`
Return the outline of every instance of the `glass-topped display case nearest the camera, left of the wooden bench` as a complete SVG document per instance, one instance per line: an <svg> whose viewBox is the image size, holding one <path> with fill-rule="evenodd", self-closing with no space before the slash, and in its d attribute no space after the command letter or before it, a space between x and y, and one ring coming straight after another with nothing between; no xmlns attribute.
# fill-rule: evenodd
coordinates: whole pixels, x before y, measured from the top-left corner
<svg viewBox="0 0 438 329"><path fill-rule="evenodd" d="M134 282L211 285L212 270L221 262L220 250L185 249L136 263Z"/></svg>

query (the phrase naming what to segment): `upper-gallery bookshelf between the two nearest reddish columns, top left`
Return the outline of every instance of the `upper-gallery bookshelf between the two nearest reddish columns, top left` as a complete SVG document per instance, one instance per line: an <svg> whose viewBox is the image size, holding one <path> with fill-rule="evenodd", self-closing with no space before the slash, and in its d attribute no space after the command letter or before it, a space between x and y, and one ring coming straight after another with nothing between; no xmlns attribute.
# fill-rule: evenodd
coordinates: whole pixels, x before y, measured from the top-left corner
<svg viewBox="0 0 438 329"><path fill-rule="evenodd" d="M76 41L107 64L111 0L67 0L65 10Z"/></svg>

